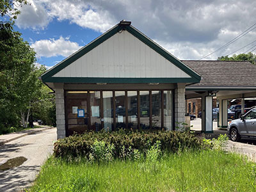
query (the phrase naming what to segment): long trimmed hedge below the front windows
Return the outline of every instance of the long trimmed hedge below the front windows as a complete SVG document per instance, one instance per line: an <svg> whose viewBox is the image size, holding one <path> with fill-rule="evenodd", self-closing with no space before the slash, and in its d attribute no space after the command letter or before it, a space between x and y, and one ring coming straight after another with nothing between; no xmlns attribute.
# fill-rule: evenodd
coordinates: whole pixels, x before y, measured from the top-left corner
<svg viewBox="0 0 256 192"><path fill-rule="evenodd" d="M58 140L54 143L54 156L56 157L78 157L89 158L92 145L95 141L104 141L106 145L114 144L114 156L120 157L124 148L145 151L154 145L156 141L161 142L161 151L177 152L185 148L203 149L211 147L203 138L198 138L189 132L178 131L154 131L154 132L125 132L124 130L113 132L86 132L76 134Z"/></svg>

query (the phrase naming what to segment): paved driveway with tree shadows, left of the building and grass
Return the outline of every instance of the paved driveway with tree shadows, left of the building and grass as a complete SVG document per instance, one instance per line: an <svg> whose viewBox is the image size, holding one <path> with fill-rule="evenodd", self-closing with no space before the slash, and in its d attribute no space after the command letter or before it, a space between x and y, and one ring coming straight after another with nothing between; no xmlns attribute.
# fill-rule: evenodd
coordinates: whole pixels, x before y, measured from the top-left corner
<svg viewBox="0 0 256 192"><path fill-rule="evenodd" d="M10 170L0 170L0 191L19 191L28 187L40 166L52 153L56 141L56 128L47 129L10 141L0 146L0 164L14 157L26 157L28 160Z"/></svg>

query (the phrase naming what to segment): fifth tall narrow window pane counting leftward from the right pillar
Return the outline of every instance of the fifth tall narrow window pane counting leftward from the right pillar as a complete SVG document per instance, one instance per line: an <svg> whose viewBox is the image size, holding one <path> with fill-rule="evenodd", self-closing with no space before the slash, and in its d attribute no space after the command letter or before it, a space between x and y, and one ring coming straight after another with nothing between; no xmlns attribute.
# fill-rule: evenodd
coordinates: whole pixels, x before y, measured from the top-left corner
<svg viewBox="0 0 256 192"><path fill-rule="evenodd" d="M116 98L116 128L126 128L125 125L125 92L115 92Z"/></svg>

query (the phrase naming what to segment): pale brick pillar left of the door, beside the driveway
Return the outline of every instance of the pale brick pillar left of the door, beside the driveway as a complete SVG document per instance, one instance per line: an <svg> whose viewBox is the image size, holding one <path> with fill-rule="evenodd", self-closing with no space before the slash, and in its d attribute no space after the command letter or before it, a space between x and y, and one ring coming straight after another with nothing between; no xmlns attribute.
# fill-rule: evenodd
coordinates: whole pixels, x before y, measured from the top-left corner
<svg viewBox="0 0 256 192"><path fill-rule="evenodd" d="M56 88L56 124L57 124L57 139L66 137L65 128L65 104L63 88Z"/></svg>

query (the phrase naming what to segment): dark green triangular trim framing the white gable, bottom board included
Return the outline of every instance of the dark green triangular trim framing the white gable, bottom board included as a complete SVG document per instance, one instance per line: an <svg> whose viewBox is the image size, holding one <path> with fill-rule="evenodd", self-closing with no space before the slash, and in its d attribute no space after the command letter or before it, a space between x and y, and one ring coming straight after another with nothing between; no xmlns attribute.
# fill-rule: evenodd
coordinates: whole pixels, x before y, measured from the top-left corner
<svg viewBox="0 0 256 192"><path fill-rule="evenodd" d="M130 23L131 24L131 23ZM102 34L90 44L84 46L79 49L79 51L75 52L65 60L58 63L58 65L52 67L50 70L45 72L42 75L42 81L44 83L198 83L200 82L200 76L191 68L187 67L180 60L175 58L168 51L164 50L161 46L150 40L147 36L143 35L138 29L134 28L130 24L116 24L113 28L106 31L106 33ZM126 30L131 33L133 36L141 40L144 44L148 45L148 47L152 48L154 51L159 53L161 56L166 58L166 60L170 61L176 67L179 67L181 70L186 72L190 77L189 78L99 78L99 77L52 77L56 73L60 72L63 68L67 67L77 59L81 58L84 54L91 51L97 45L102 44L102 42L108 40L111 36L116 33ZM116 81L118 79L118 81Z"/></svg>

